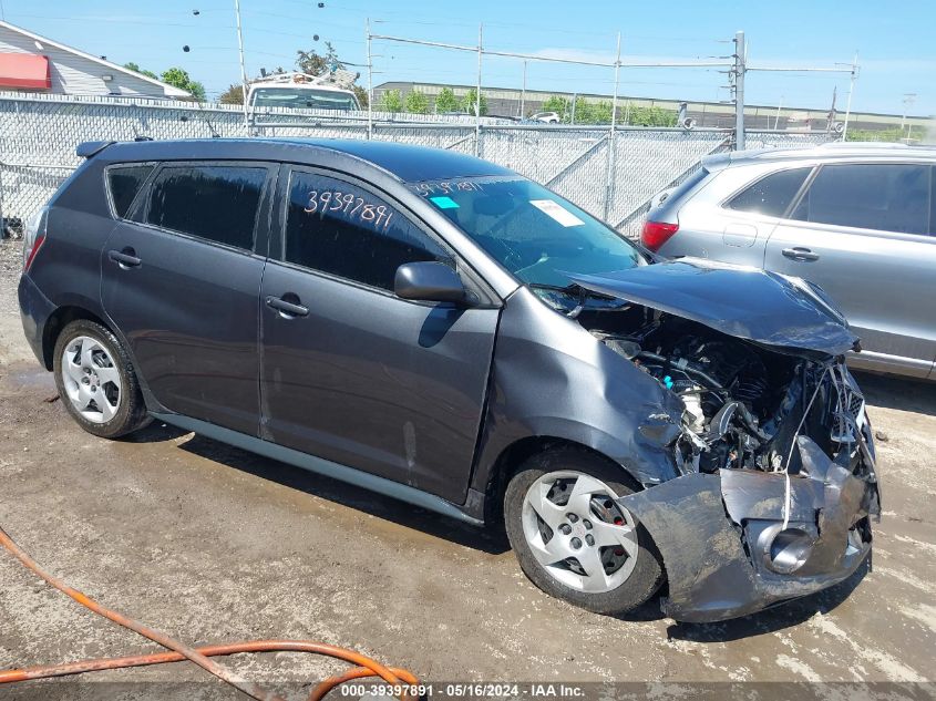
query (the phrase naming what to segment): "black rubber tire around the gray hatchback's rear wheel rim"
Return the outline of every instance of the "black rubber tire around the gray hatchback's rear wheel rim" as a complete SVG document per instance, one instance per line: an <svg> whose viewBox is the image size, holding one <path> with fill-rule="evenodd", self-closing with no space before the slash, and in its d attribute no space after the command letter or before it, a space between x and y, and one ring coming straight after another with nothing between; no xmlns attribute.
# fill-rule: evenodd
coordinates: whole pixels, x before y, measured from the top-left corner
<svg viewBox="0 0 936 701"><path fill-rule="evenodd" d="M104 347L113 360L114 368L120 373L122 386L117 410L113 417L103 423L89 421L82 416L81 412L72 404L65 391L64 378L62 375L62 355L69 343L80 336L90 337ZM101 436L102 439L117 439L142 429L150 423L151 419L146 413L146 405L143 402L143 394L140 391L140 382L136 379L133 363L121 342L111 333L110 329L89 319L76 319L65 326L55 340L52 369L62 404L64 404L78 425L89 433Z"/></svg>

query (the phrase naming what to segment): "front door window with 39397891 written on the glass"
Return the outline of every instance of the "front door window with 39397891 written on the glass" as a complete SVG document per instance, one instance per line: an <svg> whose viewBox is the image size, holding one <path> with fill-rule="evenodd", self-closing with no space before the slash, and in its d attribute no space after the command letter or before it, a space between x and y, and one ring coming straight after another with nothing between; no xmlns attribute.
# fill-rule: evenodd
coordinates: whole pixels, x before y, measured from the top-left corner
<svg viewBox="0 0 936 701"><path fill-rule="evenodd" d="M407 262L452 257L402 213L360 187L311 173L289 183L285 259L385 290Z"/></svg>

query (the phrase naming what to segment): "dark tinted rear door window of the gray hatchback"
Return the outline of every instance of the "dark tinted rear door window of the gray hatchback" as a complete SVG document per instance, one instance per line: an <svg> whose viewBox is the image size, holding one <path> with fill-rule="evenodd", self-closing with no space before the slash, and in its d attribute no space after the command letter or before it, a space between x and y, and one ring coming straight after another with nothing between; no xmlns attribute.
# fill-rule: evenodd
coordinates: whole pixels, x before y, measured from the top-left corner
<svg viewBox="0 0 936 701"><path fill-rule="evenodd" d="M267 168L171 166L150 189L147 224L250 250Z"/></svg>

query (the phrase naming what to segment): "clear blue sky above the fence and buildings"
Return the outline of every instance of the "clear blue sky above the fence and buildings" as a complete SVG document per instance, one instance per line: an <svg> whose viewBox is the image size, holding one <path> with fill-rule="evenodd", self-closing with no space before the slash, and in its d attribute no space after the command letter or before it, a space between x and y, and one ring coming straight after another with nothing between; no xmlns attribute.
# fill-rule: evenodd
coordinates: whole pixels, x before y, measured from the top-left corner
<svg viewBox="0 0 936 701"><path fill-rule="evenodd" d="M179 65L209 95L238 81L234 0L0 0L7 21L106 55L161 72ZM936 1L827 2L557 2L471 0L241 0L249 75L291 68L300 48L331 41L342 60L364 64L364 21L374 33L474 44L484 24L486 48L609 61L621 32L625 60L709 59L731 53L736 30L747 32L751 64L831 68L858 51L856 111L899 113L915 93L912 114L936 114ZM193 10L198 10L195 16ZM312 38L319 35L316 42ZM183 45L191 48L183 52ZM373 42L374 84L422 80L471 84L476 58L410 44ZM362 72L363 68L358 69ZM485 58L485 85L520 86L522 62ZM362 79L363 80L363 79ZM728 100L717 69L626 69L620 94L682 100ZM610 93L610 69L539 62L527 65L529 89ZM749 104L827 107L837 86L840 110L847 74L750 73Z"/></svg>

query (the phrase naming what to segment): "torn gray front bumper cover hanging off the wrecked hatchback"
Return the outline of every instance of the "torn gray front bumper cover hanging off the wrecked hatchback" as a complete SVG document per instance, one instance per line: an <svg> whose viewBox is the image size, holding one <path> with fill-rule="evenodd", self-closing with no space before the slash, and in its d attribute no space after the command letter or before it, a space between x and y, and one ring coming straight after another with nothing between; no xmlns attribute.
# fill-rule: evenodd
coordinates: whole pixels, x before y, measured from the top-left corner
<svg viewBox="0 0 936 701"><path fill-rule="evenodd" d="M744 616L839 584L864 561L867 516L880 513L873 449L862 478L811 439L798 444L803 474L790 476L785 528L782 473L689 474L619 499L662 556L664 614L687 622Z"/></svg>

